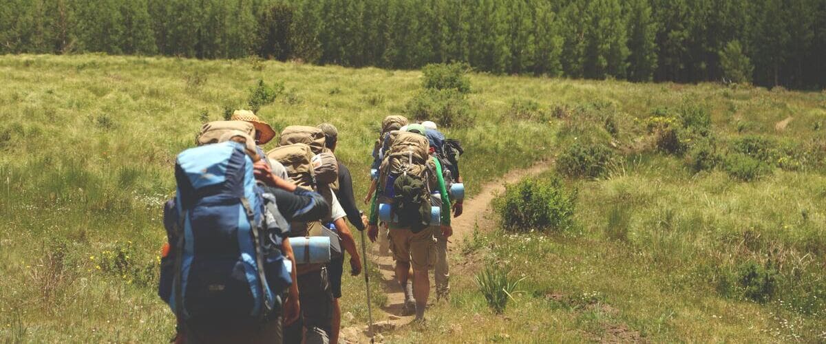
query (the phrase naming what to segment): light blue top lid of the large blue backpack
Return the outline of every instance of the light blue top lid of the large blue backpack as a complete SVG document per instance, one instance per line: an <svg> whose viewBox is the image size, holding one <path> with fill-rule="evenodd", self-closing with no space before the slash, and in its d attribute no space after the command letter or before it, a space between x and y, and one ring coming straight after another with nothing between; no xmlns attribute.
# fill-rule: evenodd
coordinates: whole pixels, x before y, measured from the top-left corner
<svg viewBox="0 0 826 344"><path fill-rule="evenodd" d="M188 208L207 196L249 198L246 191L254 185L252 165L244 144L235 141L184 150L175 163L178 200Z"/></svg>

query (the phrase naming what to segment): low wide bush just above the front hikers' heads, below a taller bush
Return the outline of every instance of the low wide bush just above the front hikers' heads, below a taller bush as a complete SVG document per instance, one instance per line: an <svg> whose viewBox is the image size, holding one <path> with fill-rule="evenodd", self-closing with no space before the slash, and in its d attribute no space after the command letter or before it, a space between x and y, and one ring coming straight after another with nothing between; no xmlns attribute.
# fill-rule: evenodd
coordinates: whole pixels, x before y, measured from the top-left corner
<svg viewBox="0 0 826 344"><path fill-rule="evenodd" d="M461 92L454 89L425 89L406 105L406 113L413 120L433 120L445 127L472 125L470 105Z"/></svg>

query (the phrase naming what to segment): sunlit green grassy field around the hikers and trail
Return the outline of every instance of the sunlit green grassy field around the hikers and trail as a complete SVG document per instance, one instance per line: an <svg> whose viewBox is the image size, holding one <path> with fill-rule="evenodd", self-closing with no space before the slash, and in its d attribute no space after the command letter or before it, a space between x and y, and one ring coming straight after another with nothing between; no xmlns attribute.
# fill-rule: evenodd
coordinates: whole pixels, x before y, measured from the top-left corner
<svg viewBox="0 0 826 344"><path fill-rule="evenodd" d="M276 130L338 126L357 198L381 119L420 90L417 71L255 59L2 56L0 75L3 342L172 336L155 275L174 156L202 122L244 106L259 79L284 86L259 111ZM392 341L826 341L826 93L470 80L474 120L447 130L468 150L470 192L575 144L614 158L596 177L565 179L578 191L572 228L493 229L454 252L468 265L453 299ZM707 132L681 131L685 147L663 148L668 121L698 111ZM712 158L698 153L704 144ZM526 277L504 314L487 309L472 280L483 264L470 262ZM743 286L748 271L769 280L763 290ZM344 279L354 314L344 326L365 321L361 283Z"/></svg>

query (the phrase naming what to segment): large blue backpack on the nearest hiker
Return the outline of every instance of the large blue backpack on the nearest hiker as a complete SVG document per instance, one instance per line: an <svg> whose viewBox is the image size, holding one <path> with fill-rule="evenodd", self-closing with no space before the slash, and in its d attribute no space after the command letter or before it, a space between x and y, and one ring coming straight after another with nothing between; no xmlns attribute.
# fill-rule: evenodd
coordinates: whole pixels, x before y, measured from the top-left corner
<svg viewBox="0 0 826 344"><path fill-rule="evenodd" d="M175 179L177 196L164 210L171 247L161 262L161 299L185 321L263 319L277 310L292 280L244 146L187 149Z"/></svg>

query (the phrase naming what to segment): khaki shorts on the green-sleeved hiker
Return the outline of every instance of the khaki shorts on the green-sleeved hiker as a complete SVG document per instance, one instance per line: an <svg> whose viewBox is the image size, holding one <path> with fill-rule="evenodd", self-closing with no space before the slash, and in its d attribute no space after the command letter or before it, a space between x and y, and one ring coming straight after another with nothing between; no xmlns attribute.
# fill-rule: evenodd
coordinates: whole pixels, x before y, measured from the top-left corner
<svg viewBox="0 0 826 344"><path fill-rule="evenodd" d="M436 264L436 242L433 227L413 233L410 229L390 229L390 250L398 262L411 262L413 270L432 270Z"/></svg>

